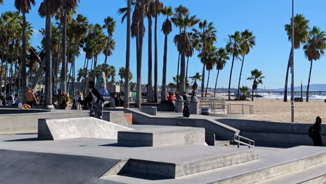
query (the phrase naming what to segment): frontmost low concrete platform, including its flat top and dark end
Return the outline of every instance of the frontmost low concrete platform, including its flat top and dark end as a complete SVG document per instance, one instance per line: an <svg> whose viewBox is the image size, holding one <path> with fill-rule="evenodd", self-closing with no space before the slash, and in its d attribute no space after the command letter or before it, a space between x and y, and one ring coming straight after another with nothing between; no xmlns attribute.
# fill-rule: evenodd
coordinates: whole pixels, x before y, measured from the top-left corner
<svg viewBox="0 0 326 184"><path fill-rule="evenodd" d="M182 155L171 158L170 153ZM162 178L180 178L258 159L257 153L252 149L217 149L213 146L199 145L160 147L160 154L157 158L146 160L130 158L127 162L121 161L117 167L113 167L114 171L108 171L102 177L114 174L144 174Z"/></svg>

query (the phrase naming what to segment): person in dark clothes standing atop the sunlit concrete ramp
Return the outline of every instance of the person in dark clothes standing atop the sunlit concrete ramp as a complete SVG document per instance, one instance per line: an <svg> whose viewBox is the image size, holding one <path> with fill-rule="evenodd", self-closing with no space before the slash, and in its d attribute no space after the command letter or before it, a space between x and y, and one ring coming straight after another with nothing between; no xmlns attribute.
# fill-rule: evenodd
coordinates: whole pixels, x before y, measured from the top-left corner
<svg viewBox="0 0 326 184"><path fill-rule="evenodd" d="M105 102L103 96L98 91L98 89L95 88L95 82L89 81L88 87L91 89L91 93L93 95L94 101L93 105L89 111L90 116L94 116L95 118L102 119L103 115L103 104Z"/></svg>

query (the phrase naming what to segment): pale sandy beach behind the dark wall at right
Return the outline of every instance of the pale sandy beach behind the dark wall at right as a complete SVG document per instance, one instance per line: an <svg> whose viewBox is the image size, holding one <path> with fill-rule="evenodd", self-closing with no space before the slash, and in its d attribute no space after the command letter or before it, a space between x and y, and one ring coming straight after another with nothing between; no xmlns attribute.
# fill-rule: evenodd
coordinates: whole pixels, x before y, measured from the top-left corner
<svg viewBox="0 0 326 184"><path fill-rule="evenodd" d="M290 102L283 102L277 99L255 98L254 102L247 100L226 101L226 103L254 105L254 115L244 117L245 119L279 122L291 121ZM242 107L238 107L238 109L240 108L242 109ZM326 102L295 102L295 123L314 123L316 116L326 118Z"/></svg>

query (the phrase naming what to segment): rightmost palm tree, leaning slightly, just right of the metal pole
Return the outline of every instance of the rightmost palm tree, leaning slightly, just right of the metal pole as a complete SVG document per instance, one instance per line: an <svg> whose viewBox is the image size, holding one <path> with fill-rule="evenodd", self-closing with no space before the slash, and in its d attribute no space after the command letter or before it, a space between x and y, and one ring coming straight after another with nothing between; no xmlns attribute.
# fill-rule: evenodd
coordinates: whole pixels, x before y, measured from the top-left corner
<svg viewBox="0 0 326 184"><path fill-rule="evenodd" d="M324 54L326 49L326 37L325 32L321 31L318 27L313 26L313 29L309 31L309 38L304 45L304 55L310 61L309 79L306 87L306 102L309 102L309 86L311 79L311 70L313 60L317 61Z"/></svg>

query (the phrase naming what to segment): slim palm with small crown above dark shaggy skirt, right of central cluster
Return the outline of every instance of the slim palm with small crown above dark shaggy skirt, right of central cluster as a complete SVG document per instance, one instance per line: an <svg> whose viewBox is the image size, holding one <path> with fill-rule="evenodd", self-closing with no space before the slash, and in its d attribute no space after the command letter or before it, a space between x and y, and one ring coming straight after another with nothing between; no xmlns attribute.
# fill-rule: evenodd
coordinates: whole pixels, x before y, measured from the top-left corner
<svg viewBox="0 0 326 184"><path fill-rule="evenodd" d="M173 15L173 11L171 6L164 7L161 10L161 13L166 16L166 20L163 22L162 25L162 32L164 33L164 56L163 56L163 71L162 71L162 96L161 102L165 102L167 95L166 95L166 65L167 65L167 40L169 33L172 31L172 24L169 17Z"/></svg>

